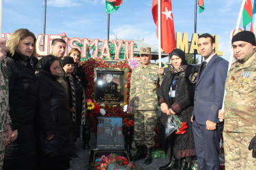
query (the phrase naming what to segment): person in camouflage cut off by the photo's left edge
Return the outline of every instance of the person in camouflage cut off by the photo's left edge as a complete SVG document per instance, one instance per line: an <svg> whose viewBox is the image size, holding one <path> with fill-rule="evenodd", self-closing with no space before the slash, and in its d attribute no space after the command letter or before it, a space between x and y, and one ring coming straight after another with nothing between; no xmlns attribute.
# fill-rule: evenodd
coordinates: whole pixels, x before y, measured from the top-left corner
<svg viewBox="0 0 256 170"><path fill-rule="evenodd" d="M8 78L5 76L5 39L0 39L0 169L3 167L5 146L10 141L12 130L10 127L11 118L9 115L9 90Z"/></svg>

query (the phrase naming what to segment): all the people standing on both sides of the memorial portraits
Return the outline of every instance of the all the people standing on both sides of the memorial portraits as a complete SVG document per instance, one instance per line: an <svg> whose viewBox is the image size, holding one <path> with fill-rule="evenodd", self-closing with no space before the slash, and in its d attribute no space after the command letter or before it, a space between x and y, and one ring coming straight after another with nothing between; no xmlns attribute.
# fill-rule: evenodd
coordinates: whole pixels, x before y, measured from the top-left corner
<svg viewBox="0 0 256 170"><path fill-rule="evenodd" d="M64 56L66 41L53 39L51 54L38 61L35 41L27 29L14 31L7 42L0 39L0 169L68 169L70 156L77 157L74 143L85 124L87 87L81 52L73 48ZM150 63L150 48L140 49L142 64L130 81L138 149L133 160L152 163L160 105L158 141L170 158L160 170L190 169L195 158L198 169L220 169L221 131L225 168L255 169L255 35L242 31L233 36L236 61L229 71L229 63L214 52L212 35L199 35L197 46L204 58L199 69L175 49L165 73ZM186 133L166 135L171 115L186 122Z"/></svg>

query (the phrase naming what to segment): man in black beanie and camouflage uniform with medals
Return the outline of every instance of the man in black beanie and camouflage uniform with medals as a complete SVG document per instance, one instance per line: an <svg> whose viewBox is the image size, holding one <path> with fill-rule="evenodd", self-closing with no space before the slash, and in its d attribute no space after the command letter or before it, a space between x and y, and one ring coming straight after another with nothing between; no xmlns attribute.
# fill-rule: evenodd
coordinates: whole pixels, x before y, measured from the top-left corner
<svg viewBox="0 0 256 170"><path fill-rule="evenodd" d="M232 46L236 61L229 69L225 84L225 169L256 169L255 35L250 31L237 33L232 38ZM221 110L218 118L224 118Z"/></svg>

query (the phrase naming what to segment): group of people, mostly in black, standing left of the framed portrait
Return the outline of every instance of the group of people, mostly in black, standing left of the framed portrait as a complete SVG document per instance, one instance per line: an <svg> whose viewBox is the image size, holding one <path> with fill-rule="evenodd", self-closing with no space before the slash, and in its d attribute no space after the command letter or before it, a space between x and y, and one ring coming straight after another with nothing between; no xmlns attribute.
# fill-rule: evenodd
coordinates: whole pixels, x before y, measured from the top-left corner
<svg viewBox="0 0 256 170"><path fill-rule="evenodd" d="M28 29L14 31L6 46L0 39L0 169L68 169L77 157L87 86L81 52L64 56L66 41L54 39L38 61L35 41Z"/></svg>

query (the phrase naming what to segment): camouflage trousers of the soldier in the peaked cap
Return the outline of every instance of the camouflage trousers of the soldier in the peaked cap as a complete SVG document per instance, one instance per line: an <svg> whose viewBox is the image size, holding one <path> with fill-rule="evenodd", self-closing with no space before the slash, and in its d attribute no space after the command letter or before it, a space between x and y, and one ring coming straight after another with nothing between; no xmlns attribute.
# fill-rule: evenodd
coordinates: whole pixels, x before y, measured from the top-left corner
<svg viewBox="0 0 256 170"><path fill-rule="evenodd" d="M139 146L155 146L156 110L134 110L134 140Z"/></svg>

